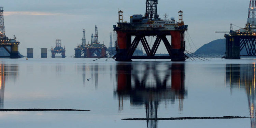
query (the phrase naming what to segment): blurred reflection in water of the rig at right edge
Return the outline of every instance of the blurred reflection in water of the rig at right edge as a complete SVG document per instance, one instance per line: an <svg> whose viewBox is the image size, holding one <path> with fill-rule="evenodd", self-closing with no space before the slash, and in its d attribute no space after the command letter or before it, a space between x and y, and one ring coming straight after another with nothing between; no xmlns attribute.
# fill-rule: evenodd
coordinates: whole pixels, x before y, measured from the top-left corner
<svg viewBox="0 0 256 128"><path fill-rule="evenodd" d="M231 93L232 89L245 88L251 116L251 128L255 128L255 64L226 65L226 87L230 87Z"/></svg>

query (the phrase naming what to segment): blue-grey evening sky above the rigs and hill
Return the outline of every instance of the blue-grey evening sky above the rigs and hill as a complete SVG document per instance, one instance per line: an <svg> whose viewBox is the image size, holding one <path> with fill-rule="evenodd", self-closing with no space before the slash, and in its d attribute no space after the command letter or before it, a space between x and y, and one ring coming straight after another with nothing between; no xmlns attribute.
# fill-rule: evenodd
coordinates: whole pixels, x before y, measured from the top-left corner
<svg viewBox="0 0 256 128"><path fill-rule="evenodd" d="M56 39L61 39L66 55L71 56L77 43L82 43L82 30L86 30L88 42L95 25L98 25L99 41L109 47L109 33L118 20L118 9L124 11L124 20L129 22L130 15L145 13L145 1L2 0L0 6L4 6L5 33L9 38L16 35L20 53L26 55L26 48L32 47L37 57L41 47L49 49ZM244 27L248 6L249 0L159 0L158 14L163 18L167 13L169 18L177 20L177 11L182 10L188 33L199 48L224 38L224 33L214 32L229 30L230 23ZM166 52L163 44L160 52Z"/></svg>

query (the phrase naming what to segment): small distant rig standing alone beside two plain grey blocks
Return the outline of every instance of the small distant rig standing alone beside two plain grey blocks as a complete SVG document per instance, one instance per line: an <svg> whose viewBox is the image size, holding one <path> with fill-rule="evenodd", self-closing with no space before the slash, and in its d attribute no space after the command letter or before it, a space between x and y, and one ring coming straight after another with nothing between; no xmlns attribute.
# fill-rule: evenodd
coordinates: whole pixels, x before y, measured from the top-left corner
<svg viewBox="0 0 256 128"><path fill-rule="evenodd" d="M61 40L60 39L56 40L56 46L51 49L51 52L52 52L52 58L55 58L55 57L65 58L66 57L65 56L66 49L65 49L65 47L63 48L61 46ZM61 55L56 56L56 54L61 54Z"/></svg>

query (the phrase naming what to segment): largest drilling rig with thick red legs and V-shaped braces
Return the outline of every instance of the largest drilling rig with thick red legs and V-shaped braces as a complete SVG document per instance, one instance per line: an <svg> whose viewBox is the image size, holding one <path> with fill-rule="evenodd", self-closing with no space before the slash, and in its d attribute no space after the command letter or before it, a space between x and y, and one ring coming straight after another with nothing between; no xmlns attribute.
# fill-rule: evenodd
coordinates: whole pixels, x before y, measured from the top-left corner
<svg viewBox="0 0 256 128"><path fill-rule="evenodd" d="M183 22L183 12L179 11L179 22L161 20L157 13L158 0L146 0L145 15L136 14L130 16L130 23L123 22L123 11L119 11L117 26L113 26L117 32L116 61L131 61L131 59L171 59L172 61L185 61L184 32L187 25ZM171 35L171 44L166 38ZM132 36L135 38L132 41ZM155 36L156 40L152 48L148 45L146 36ZM131 42L132 41L132 42ZM160 42L163 41L169 56L155 56ZM133 53L142 43L147 56L133 56Z"/></svg>

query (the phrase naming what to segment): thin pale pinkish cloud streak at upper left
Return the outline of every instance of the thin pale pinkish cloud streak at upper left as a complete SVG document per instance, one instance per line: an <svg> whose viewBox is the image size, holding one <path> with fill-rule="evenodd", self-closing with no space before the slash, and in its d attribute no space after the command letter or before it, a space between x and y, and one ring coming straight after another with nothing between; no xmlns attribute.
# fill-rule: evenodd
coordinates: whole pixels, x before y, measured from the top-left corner
<svg viewBox="0 0 256 128"><path fill-rule="evenodd" d="M4 12L4 16L9 15L59 15L58 13L45 13L45 12Z"/></svg>

